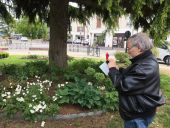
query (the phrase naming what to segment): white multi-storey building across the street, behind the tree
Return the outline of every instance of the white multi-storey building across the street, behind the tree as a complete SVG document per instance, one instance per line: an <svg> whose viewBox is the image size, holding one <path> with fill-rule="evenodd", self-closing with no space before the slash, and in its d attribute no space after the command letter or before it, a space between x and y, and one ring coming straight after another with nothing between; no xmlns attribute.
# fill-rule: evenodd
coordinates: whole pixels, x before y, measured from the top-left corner
<svg viewBox="0 0 170 128"><path fill-rule="evenodd" d="M124 33L130 31L136 33L131 25L129 17L122 16L119 19L118 27L114 33L107 32L107 27L103 24L102 19L96 15L89 19L86 24L79 22L71 23L71 32L69 39L73 43L88 44L91 46L103 45L105 47L125 47Z"/></svg>

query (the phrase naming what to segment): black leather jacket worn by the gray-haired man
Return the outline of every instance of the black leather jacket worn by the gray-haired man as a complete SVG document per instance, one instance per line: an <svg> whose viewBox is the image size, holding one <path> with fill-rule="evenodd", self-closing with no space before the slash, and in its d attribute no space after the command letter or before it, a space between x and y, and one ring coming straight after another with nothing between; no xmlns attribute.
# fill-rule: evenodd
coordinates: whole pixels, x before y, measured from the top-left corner
<svg viewBox="0 0 170 128"><path fill-rule="evenodd" d="M131 62L124 70L109 69L119 93L119 111L124 120L152 116L156 107L165 103L160 93L159 65L151 51L145 51Z"/></svg>

